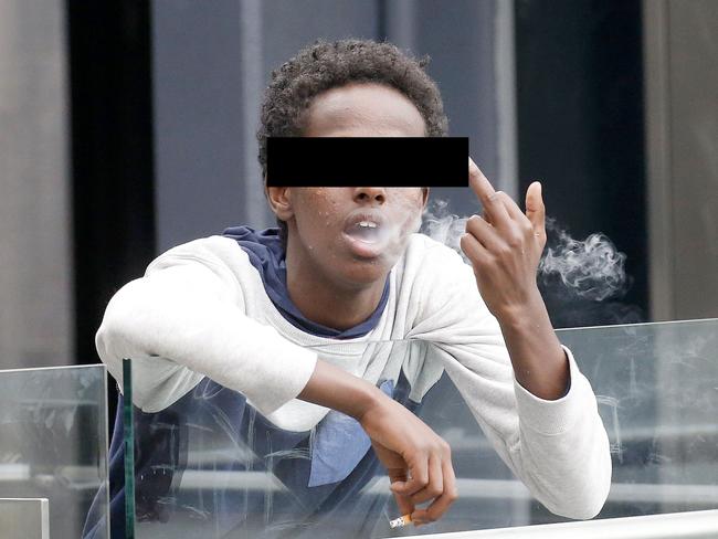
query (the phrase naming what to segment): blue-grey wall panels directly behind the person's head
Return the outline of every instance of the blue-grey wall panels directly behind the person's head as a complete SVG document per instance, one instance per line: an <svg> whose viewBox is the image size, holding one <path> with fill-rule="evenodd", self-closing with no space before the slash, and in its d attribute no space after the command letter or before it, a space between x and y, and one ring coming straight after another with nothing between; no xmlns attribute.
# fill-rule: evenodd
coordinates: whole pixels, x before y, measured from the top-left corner
<svg viewBox="0 0 718 539"><path fill-rule="evenodd" d="M317 38L386 35L430 54L450 135L468 136L475 160L510 191L497 157L499 139L501 155L513 151L511 130L497 125L497 77L510 80L511 67L496 65L496 28L507 28L498 11L496 0L155 0L158 250L232 224L274 225L254 137L262 92L272 70ZM510 108L511 99L503 103ZM451 198L456 213L477 210L465 192L434 197Z"/></svg>

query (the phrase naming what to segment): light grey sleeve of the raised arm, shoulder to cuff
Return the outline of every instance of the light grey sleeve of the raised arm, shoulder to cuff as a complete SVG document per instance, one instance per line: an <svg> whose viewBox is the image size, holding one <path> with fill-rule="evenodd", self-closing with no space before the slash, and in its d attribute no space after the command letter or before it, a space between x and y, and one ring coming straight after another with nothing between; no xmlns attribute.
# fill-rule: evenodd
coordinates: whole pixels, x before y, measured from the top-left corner
<svg viewBox="0 0 718 539"><path fill-rule="evenodd" d="M521 387L496 318L458 253L429 247L422 306L410 337L433 344L440 361L487 438L514 474L551 512L588 519L611 486L609 438L595 395L571 351L570 389L547 401Z"/></svg>

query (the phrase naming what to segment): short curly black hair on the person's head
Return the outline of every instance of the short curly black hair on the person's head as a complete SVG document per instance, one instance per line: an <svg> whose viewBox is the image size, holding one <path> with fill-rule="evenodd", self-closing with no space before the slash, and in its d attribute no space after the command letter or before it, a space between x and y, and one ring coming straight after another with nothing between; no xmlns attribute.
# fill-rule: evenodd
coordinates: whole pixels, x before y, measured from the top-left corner
<svg viewBox="0 0 718 539"><path fill-rule="evenodd" d="M351 82L389 85L419 109L424 118L425 136L446 136L448 119L439 87L424 71L430 61L429 55L416 60L389 42L356 38L327 42L320 38L274 70L270 86L264 91L261 126L256 133L265 195L266 138L300 137L306 127L305 113L314 97L337 86ZM286 250L287 225L278 218L277 225L282 246Z"/></svg>

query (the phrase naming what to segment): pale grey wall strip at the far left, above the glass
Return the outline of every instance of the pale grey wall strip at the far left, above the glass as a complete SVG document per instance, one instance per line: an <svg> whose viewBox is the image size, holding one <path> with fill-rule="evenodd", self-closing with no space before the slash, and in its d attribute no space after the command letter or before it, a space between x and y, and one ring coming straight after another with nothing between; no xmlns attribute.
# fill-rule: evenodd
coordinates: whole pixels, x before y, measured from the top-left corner
<svg viewBox="0 0 718 539"><path fill-rule="evenodd" d="M0 369L73 363L64 2L0 2Z"/></svg>

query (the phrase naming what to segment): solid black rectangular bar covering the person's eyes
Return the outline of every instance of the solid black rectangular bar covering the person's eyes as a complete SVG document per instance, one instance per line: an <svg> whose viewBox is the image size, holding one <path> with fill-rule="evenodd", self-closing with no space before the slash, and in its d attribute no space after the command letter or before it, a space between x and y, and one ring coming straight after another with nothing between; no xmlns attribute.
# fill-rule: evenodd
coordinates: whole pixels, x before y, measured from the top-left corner
<svg viewBox="0 0 718 539"><path fill-rule="evenodd" d="M267 187L468 187L468 137L267 137Z"/></svg>

